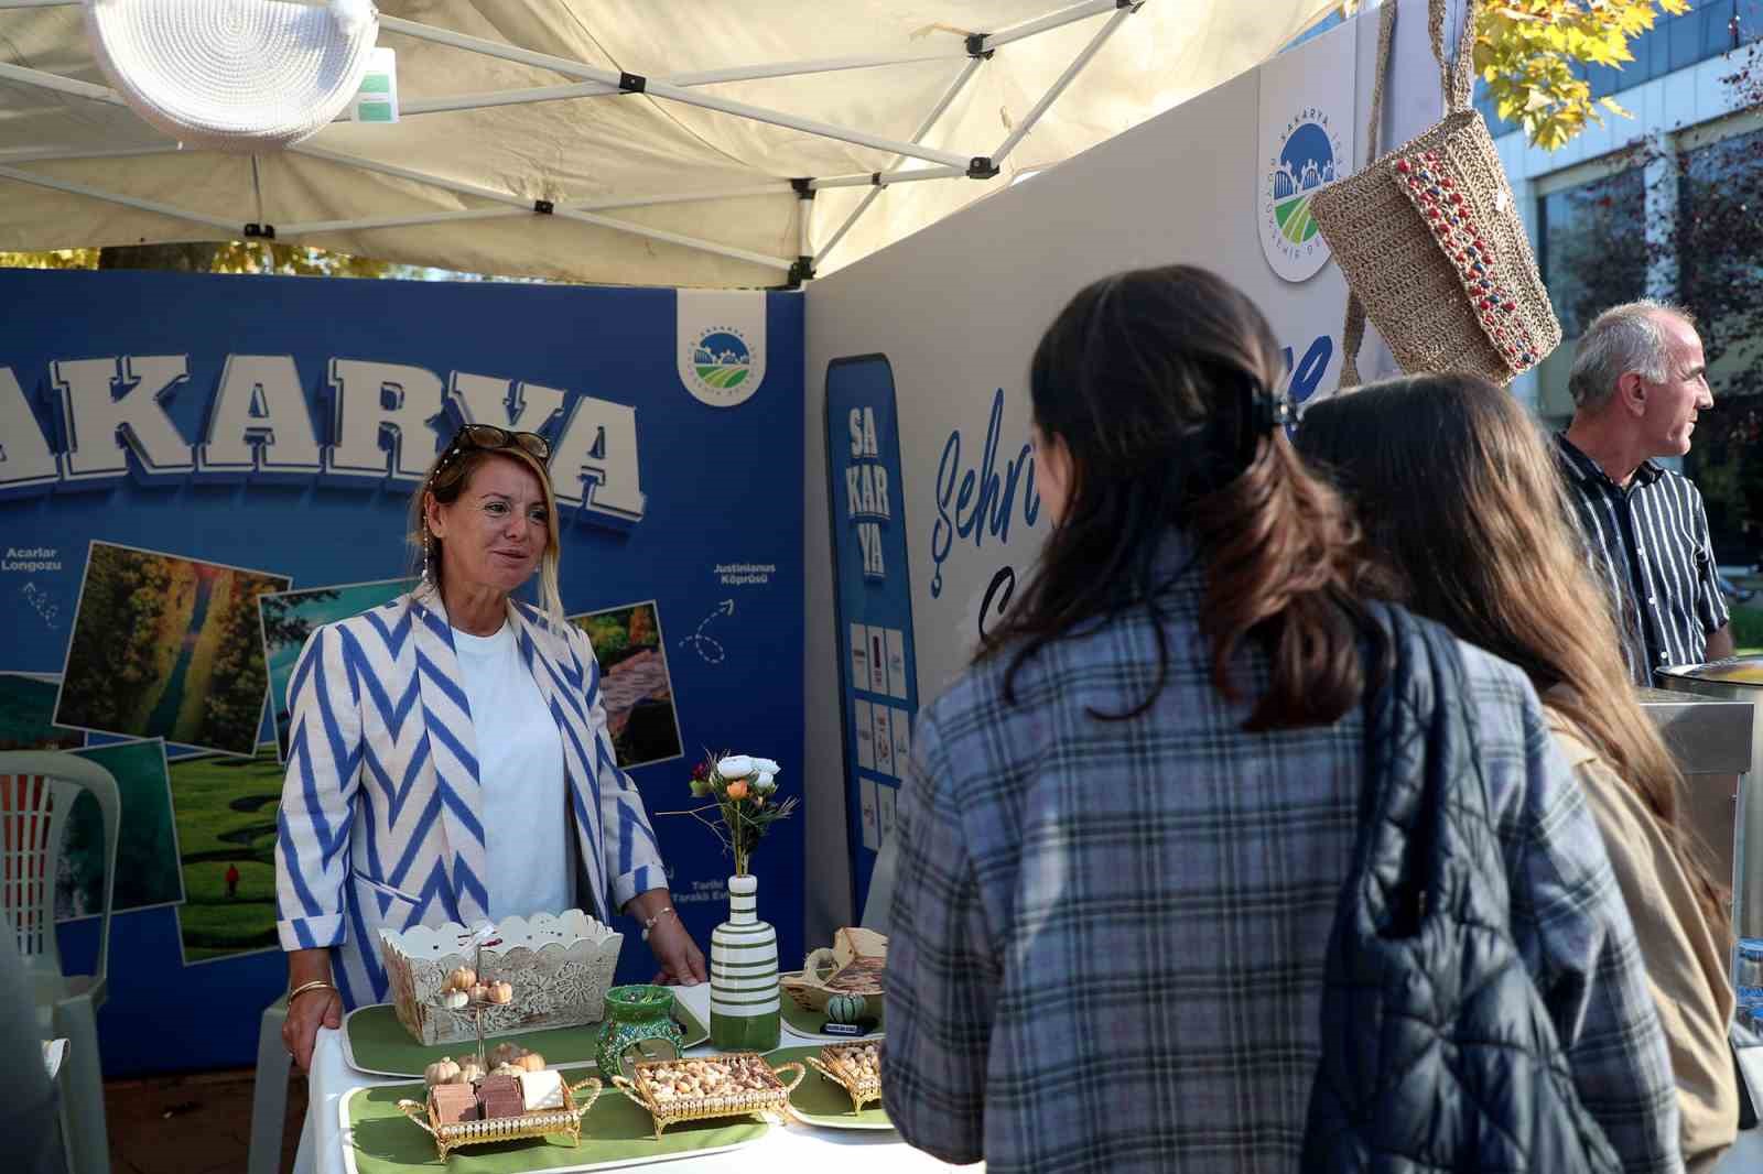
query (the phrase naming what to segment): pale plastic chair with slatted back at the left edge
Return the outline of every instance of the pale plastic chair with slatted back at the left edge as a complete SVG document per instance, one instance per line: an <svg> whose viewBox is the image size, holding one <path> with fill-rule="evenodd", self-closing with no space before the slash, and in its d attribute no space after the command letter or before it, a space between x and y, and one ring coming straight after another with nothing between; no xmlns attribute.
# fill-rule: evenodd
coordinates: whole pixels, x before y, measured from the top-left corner
<svg viewBox="0 0 1763 1174"><path fill-rule="evenodd" d="M55 936L55 878L62 834L79 791L104 816L104 908L99 959L92 975L63 975ZM0 910L5 911L37 1003L46 1038L69 1040L63 1072L67 1163L74 1174L109 1174L104 1126L104 1065L97 1012L109 975L109 915L116 880L122 795L104 767L62 751L0 751Z"/></svg>

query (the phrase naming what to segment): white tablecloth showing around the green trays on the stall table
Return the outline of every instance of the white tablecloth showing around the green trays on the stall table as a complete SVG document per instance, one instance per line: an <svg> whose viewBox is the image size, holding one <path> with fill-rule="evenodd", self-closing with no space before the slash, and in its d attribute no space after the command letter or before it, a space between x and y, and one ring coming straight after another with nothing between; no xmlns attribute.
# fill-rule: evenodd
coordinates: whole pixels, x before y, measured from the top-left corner
<svg viewBox="0 0 1763 1174"><path fill-rule="evenodd" d="M710 1021L709 984L673 987L673 994L703 1022ZM783 1047L793 1044L800 1044L800 1040L785 1033ZM709 1045L691 1049L693 1054L709 1051ZM818 1077L809 1074L809 1079ZM344 1059L342 1031L319 1028L317 1045L312 1049L307 1119L300 1130L300 1156L294 1160L294 1174L346 1174L340 1107L344 1095L363 1084L409 1084L409 1079L370 1077L356 1072ZM617 1096L619 1093L608 1089L606 1095ZM416 1130L416 1125L411 1125L411 1130ZM557 1148L559 1169L568 1169L569 1155L566 1146ZM435 1163L435 1169L443 1167ZM675 1158L651 1169L668 1174L675 1170L681 1174L739 1174L756 1169L911 1174L913 1170L984 1170L986 1167L984 1163L947 1165L906 1146L894 1132L774 1125L765 1137L744 1149Z"/></svg>

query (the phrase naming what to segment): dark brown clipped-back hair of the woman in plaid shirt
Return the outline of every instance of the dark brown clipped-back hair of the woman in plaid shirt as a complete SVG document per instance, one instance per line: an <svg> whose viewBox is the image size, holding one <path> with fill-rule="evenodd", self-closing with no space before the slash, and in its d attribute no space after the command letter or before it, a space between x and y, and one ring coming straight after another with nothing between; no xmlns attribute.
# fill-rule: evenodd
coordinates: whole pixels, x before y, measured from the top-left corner
<svg viewBox="0 0 1763 1174"><path fill-rule="evenodd" d="M1261 310L1206 270L1118 273L1072 298L1030 368L1035 425L1072 455L1070 501L1038 575L977 658L1012 649L1007 702L1038 649L1146 608L1157 680L1137 707L1093 716L1146 712L1169 682L1157 555L1181 529L1204 566L1199 620L1215 687L1239 696L1229 665L1245 638L1273 661L1246 730L1331 723L1359 703L1361 643L1373 665L1386 649L1358 601L1372 568L1336 494L1305 471L1282 428L1255 420L1282 363Z"/></svg>

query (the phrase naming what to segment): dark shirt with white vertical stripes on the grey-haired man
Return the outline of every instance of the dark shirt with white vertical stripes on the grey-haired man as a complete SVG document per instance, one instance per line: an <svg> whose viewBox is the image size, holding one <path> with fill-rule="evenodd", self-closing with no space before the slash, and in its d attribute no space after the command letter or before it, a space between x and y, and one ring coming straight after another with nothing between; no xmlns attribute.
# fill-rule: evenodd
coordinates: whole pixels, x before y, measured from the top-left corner
<svg viewBox="0 0 1763 1174"><path fill-rule="evenodd" d="M1592 575L1610 592L1634 684L1666 665L1707 659L1708 633L1726 626L1708 515L1689 478L1643 460L1624 488L1555 435Z"/></svg>

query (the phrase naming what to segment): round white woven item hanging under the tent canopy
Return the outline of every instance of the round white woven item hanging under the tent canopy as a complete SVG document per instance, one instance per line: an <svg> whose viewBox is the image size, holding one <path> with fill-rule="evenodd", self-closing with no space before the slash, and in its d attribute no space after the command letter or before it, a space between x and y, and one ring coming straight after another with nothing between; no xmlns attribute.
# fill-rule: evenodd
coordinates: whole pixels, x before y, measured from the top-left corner
<svg viewBox="0 0 1763 1174"><path fill-rule="evenodd" d="M261 153L354 99L379 16L368 0L86 0L86 30L141 118L185 146Z"/></svg>

